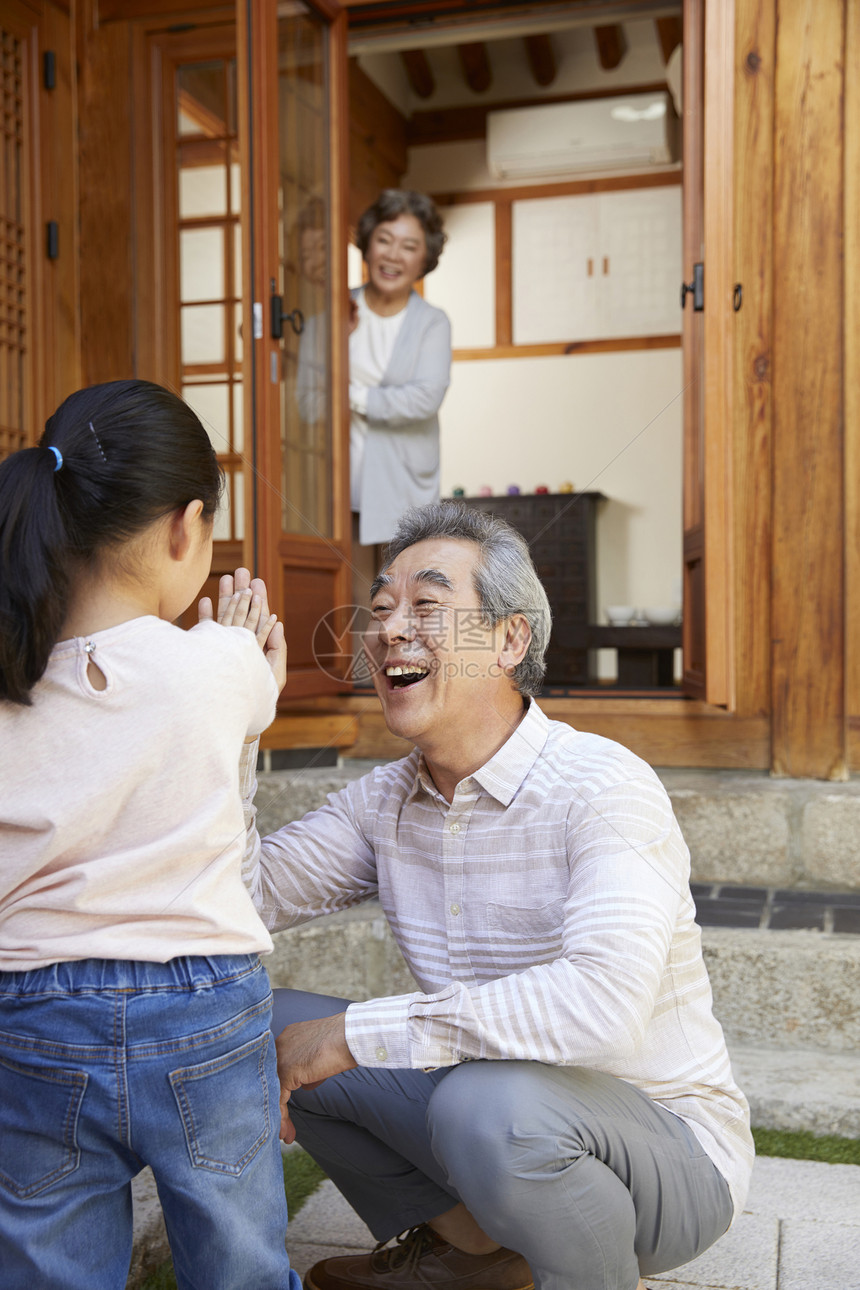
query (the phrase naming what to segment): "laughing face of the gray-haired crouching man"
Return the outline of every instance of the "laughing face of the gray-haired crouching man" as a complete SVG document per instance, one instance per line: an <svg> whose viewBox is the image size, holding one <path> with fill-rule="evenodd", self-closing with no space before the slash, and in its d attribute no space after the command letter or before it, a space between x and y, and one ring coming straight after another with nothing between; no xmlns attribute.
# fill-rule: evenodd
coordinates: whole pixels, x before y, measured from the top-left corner
<svg viewBox="0 0 860 1290"><path fill-rule="evenodd" d="M481 729L511 680L505 623L487 627L474 588L480 548L460 538L416 542L374 583L365 650L392 734L425 752Z"/></svg>

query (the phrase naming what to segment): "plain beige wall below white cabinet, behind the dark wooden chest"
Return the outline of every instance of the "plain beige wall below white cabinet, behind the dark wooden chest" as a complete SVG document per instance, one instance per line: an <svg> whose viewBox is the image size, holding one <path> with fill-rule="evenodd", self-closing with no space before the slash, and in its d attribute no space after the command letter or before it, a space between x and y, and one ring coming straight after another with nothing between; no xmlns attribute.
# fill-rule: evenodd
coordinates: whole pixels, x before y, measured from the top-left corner
<svg viewBox="0 0 860 1290"><path fill-rule="evenodd" d="M681 578L681 352L455 362L442 405L442 493L606 494L597 600L670 605Z"/></svg>

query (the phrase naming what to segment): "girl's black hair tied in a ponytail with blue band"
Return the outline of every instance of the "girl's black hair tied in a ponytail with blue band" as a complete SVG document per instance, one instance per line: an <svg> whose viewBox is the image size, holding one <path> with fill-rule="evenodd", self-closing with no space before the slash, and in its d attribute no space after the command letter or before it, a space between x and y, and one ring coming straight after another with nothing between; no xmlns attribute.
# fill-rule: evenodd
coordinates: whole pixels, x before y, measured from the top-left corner
<svg viewBox="0 0 860 1290"><path fill-rule="evenodd" d="M37 448L0 463L0 698L30 704L68 611L76 569L223 477L196 414L148 381L79 390Z"/></svg>

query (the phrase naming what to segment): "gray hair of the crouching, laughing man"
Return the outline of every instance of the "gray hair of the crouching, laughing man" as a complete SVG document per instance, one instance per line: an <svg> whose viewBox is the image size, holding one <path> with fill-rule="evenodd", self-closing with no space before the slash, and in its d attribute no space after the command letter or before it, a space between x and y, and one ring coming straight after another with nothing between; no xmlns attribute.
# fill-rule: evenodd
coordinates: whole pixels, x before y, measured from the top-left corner
<svg viewBox="0 0 860 1290"><path fill-rule="evenodd" d="M474 542L481 560L474 569L474 590L489 626L512 614L522 614L531 628L525 658L513 671L520 694L540 691L547 671L544 654L549 644L552 613L547 592L538 577L529 544L498 515L464 506L463 502L432 502L416 506L401 517L395 537L386 548L382 571L407 547L435 538Z"/></svg>

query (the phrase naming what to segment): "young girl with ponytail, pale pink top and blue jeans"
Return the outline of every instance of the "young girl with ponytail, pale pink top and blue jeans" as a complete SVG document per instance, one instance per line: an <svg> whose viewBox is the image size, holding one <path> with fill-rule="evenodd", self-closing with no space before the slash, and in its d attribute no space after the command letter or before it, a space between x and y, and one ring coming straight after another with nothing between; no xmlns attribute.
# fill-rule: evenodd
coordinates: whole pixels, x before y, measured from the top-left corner
<svg viewBox="0 0 860 1290"><path fill-rule="evenodd" d="M173 626L220 490L195 413L144 381L71 395L0 466L5 1290L125 1286L144 1165L179 1286L299 1287L272 943L240 876L284 632L245 570L218 622Z"/></svg>

